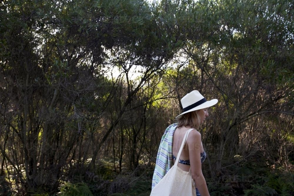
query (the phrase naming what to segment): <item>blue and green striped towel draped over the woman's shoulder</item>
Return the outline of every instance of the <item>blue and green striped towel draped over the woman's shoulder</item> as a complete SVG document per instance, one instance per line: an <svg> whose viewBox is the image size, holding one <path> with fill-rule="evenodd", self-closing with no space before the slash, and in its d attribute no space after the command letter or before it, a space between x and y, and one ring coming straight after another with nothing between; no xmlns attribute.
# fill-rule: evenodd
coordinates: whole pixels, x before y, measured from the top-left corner
<svg viewBox="0 0 294 196"><path fill-rule="evenodd" d="M177 125L178 123L169 125L161 138L156 158L155 170L152 178L152 189L173 165L173 134L175 133Z"/></svg>

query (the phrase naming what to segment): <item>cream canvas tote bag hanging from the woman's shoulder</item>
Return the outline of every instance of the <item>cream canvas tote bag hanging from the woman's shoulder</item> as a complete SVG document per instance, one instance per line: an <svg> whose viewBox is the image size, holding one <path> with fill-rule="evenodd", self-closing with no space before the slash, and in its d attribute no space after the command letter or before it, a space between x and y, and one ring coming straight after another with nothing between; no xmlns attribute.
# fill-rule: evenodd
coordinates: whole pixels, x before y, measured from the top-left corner
<svg viewBox="0 0 294 196"><path fill-rule="evenodd" d="M193 129L189 129L183 138L183 142L177 155L175 165L173 165L171 169L168 170L166 175L158 182L158 184L155 185L155 187L151 191L150 196L196 195L194 180L192 180L191 175L191 167L188 172L183 171L180 167L178 167L181 152L191 130Z"/></svg>

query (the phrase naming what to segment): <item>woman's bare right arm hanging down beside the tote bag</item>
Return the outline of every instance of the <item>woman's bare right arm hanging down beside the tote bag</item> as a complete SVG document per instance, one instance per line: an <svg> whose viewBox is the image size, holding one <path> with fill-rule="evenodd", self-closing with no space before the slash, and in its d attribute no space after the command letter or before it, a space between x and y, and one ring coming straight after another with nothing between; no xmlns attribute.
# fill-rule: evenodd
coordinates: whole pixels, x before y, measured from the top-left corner
<svg viewBox="0 0 294 196"><path fill-rule="evenodd" d="M189 149L189 159L192 172L192 178L195 181L195 186L199 190L201 196L209 195L205 178L201 168L201 134L193 130L188 136L187 142Z"/></svg>

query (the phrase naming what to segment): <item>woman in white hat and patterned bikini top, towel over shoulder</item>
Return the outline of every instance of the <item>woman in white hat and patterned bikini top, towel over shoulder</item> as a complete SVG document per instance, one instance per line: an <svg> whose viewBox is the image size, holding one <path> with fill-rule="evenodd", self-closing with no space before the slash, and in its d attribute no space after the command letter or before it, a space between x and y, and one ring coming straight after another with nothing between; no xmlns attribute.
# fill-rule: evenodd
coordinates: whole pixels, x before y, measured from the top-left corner
<svg viewBox="0 0 294 196"><path fill-rule="evenodd" d="M194 128L188 135L186 144L180 155L178 167L189 171L195 182L196 195L209 195L201 164L206 158L206 152L201 142L201 134L196 130L208 117L207 108L215 105L217 99L207 101L199 91L192 91L181 99L183 113L176 117L177 123L170 125L161 138L153 173L152 189L174 164L184 135L187 130Z"/></svg>

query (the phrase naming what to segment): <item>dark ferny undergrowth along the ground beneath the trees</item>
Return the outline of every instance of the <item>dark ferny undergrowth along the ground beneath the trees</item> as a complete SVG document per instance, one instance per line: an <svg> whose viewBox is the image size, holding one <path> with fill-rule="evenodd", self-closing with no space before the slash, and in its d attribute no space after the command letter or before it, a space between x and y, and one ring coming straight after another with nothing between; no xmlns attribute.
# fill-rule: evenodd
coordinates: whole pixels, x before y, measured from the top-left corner
<svg viewBox="0 0 294 196"><path fill-rule="evenodd" d="M256 157L255 157L256 158ZM28 192L34 196L147 196L151 192L154 166L138 167L132 172L117 173L109 162L103 161L95 172L85 168L70 168L59 180L57 191L46 187ZM215 178L206 178L211 196L225 195L294 195L294 168L268 165L261 157L224 167ZM11 183L1 178L0 195L18 195Z"/></svg>

